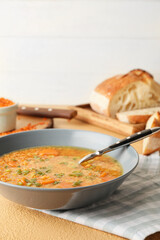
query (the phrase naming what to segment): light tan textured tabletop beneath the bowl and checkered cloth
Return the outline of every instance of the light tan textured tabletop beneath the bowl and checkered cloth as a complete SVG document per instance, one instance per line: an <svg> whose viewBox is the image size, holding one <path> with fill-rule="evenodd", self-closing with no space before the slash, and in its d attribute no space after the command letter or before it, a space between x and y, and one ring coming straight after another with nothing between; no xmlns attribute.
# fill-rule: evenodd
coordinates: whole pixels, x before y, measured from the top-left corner
<svg viewBox="0 0 160 240"><path fill-rule="evenodd" d="M83 129L113 135L124 136L92 126L76 119L54 119L55 128ZM134 143L141 153L142 143ZM103 231L92 229L77 223L53 217L13 203L0 196L0 240L122 240ZM146 238L159 240L160 232Z"/></svg>

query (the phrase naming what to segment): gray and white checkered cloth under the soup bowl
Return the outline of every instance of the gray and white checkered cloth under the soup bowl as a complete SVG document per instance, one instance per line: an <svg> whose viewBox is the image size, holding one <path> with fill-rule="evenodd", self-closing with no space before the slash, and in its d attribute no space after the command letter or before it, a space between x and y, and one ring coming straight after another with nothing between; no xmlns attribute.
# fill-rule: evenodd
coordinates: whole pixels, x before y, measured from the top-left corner
<svg viewBox="0 0 160 240"><path fill-rule="evenodd" d="M160 231L160 156L140 155L136 170L109 198L86 208L40 210L132 240Z"/></svg>

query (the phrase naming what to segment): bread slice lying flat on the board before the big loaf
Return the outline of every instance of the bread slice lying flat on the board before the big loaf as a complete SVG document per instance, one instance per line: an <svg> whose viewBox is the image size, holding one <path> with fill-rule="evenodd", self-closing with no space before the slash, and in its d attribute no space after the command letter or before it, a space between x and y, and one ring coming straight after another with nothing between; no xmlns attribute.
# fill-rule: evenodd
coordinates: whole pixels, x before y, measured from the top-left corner
<svg viewBox="0 0 160 240"><path fill-rule="evenodd" d="M119 112L116 117L119 121L125 123L146 123L147 120L156 112L160 112L160 107L143 108L126 112Z"/></svg>

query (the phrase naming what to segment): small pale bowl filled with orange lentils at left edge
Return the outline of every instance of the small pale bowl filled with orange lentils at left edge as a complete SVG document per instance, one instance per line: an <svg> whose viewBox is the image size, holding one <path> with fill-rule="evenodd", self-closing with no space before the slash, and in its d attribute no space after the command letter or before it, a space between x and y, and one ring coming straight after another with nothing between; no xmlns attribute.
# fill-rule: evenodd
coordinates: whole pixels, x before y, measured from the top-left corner
<svg viewBox="0 0 160 240"><path fill-rule="evenodd" d="M10 99L0 97L0 133L16 128L16 111L18 104Z"/></svg>

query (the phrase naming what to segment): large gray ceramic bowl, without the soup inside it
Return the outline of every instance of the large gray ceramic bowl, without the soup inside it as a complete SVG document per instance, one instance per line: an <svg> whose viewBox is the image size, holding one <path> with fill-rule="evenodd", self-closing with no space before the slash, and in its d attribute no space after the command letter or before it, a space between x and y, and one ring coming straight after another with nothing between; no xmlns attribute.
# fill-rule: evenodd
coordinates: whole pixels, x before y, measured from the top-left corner
<svg viewBox="0 0 160 240"><path fill-rule="evenodd" d="M0 138L0 155L18 149L45 145L77 146L99 150L116 141L117 139L112 136L83 130L35 130ZM117 159L124 171L122 176L114 180L66 189L25 187L0 181L0 193L11 201L31 208L64 210L90 205L109 197L138 164L138 154L131 146L115 150L108 155Z"/></svg>

